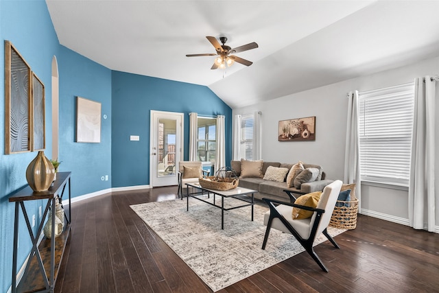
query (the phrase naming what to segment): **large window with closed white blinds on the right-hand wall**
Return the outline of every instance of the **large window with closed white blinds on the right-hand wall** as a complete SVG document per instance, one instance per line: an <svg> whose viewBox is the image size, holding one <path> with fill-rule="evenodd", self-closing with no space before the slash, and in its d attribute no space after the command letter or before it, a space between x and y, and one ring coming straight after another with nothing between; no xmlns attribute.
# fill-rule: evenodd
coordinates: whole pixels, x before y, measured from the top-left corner
<svg viewBox="0 0 439 293"><path fill-rule="evenodd" d="M359 93L361 180L408 186L414 83Z"/></svg>

